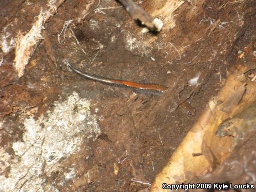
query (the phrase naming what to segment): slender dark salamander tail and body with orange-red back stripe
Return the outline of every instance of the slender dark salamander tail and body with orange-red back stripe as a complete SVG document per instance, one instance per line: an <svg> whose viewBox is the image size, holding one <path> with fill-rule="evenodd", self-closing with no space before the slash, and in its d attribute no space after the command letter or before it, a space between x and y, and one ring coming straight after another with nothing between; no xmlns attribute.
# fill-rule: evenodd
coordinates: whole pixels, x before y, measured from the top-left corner
<svg viewBox="0 0 256 192"><path fill-rule="evenodd" d="M117 87L130 88L134 92L143 93L143 94L153 94L153 95L157 95L157 96L161 96L167 90L167 87L162 86L162 85L157 85L157 84L141 84L141 83L134 83L131 81L121 81L121 80L116 80L116 79L108 79L105 77L98 77L96 75L91 75L86 72L81 72L79 69L73 67L68 62L68 60L66 60L66 62L68 64L68 66L74 72L78 73L79 75L81 75L87 79L98 81L100 83L105 83L105 84L109 84L109 85L113 85L113 86L117 86Z"/></svg>

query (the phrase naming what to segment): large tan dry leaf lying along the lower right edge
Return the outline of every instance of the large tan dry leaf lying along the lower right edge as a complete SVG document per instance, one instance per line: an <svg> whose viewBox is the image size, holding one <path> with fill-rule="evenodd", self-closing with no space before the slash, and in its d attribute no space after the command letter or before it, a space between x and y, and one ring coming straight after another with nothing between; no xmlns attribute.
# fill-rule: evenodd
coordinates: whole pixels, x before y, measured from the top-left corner
<svg viewBox="0 0 256 192"><path fill-rule="evenodd" d="M243 81L241 73L228 76L222 90L209 101L203 115L156 177L151 188L153 192L165 191L163 183L182 183L205 174L228 157L233 149L233 137L220 138L216 132L224 120L240 113L256 100L256 83ZM200 153L203 155L192 155Z"/></svg>

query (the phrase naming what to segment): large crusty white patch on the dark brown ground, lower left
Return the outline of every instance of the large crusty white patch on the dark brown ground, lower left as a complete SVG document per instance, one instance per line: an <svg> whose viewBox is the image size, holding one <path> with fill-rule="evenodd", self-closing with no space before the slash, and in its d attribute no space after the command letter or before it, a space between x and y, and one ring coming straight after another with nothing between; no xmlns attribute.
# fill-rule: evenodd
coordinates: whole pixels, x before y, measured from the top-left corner
<svg viewBox="0 0 256 192"><path fill-rule="evenodd" d="M44 188L58 191L44 178L61 167L60 159L78 152L85 138L99 133L96 117L90 113L90 101L79 98L77 93L56 102L53 111L38 120L25 119L23 139L12 145L15 155L11 157L0 148L0 173L10 170L8 177L0 174L0 192L42 192ZM69 170L66 181L75 178L75 169Z"/></svg>

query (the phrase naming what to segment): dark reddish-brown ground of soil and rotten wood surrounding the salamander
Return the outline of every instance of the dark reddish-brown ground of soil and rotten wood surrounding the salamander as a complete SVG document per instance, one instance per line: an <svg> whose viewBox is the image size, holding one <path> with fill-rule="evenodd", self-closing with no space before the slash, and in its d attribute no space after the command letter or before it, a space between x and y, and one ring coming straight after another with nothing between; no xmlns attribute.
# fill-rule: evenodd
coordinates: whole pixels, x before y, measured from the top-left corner
<svg viewBox="0 0 256 192"><path fill-rule="evenodd" d="M26 33L38 15L39 1L2 2L2 33L4 26L13 22L17 24L8 30ZM206 0L192 17L188 13L193 4L187 1L176 10L173 29L142 35L141 26L130 19L124 8L102 10L106 14L95 12L98 1L91 1L89 14L78 22L75 19L88 2L66 0L58 8L58 14L45 24L44 40L39 42L22 78L18 79L11 67L15 50L1 53L5 63L0 68L0 117L9 129L0 130L0 145L21 140L19 116L33 113L38 118L52 108L54 101L64 100L76 91L81 98L91 99L91 111L97 112L102 133L97 139L84 139L81 150L64 160L64 169L74 164L77 167L74 181L60 184L61 172L51 174L47 181L60 191L138 191L148 186L131 179L152 183L209 99L220 90L227 72L236 64L255 60L256 5L253 0L234 5L225 0ZM223 4L226 6L220 8ZM116 1L100 3L102 8L116 6L120 6ZM149 12L154 9L147 1L141 6ZM218 25L210 25L210 18ZM64 21L71 19L75 21L60 44L58 33ZM170 50L166 53L168 41L180 50L180 60L170 44L166 44ZM245 52L244 57L237 57L239 50ZM84 79L72 72L64 59L91 74L160 84L169 90L161 98L135 95L132 90ZM198 86L189 86L188 80L197 75ZM194 115L182 109L184 101L190 103L188 108ZM11 147L9 150L13 154ZM90 181L85 181L88 172Z"/></svg>

